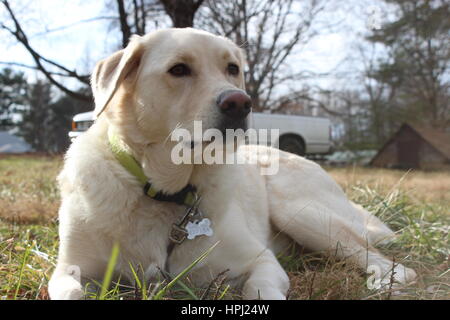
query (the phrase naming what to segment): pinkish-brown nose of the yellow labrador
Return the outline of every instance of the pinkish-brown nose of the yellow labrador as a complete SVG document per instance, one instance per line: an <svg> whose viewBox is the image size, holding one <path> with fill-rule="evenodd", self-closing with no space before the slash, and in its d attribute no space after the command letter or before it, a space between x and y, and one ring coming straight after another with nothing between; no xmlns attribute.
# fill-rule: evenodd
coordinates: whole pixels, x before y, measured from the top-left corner
<svg viewBox="0 0 450 320"><path fill-rule="evenodd" d="M217 106L232 119L244 119L252 108L252 100L241 90L227 90L219 95Z"/></svg>

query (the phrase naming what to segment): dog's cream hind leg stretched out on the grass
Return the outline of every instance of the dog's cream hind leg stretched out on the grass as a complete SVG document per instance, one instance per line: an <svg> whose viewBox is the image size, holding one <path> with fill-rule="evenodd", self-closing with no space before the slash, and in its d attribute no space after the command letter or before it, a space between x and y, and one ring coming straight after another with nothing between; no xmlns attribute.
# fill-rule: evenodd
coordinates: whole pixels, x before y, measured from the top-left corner
<svg viewBox="0 0 450 320"><path fill-rule="evenodd" d="M380 235L392 235L378 219L367 220L343 190L317 164L280 152L279 172L266 176L270 219L275 227L315 251L333 251L350 258L363 270L373 266L389 277L394 263L370 246ZM383 225L383 228L380 227ZM371 232L370 227L378 231ZM394 278L412 281L415 272L397 265Z"/></svg>

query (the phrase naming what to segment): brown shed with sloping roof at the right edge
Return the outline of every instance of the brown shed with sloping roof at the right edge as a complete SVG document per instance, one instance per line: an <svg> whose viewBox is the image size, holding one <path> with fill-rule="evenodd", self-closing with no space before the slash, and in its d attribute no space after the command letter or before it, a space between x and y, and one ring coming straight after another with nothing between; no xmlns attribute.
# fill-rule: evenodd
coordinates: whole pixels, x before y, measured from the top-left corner
<svg viewBox="0 0 450 320"><path fill-rule="evenodd" d="M450 168L450 134L404 123L378 151L370 165L401 169Z"/></svg>

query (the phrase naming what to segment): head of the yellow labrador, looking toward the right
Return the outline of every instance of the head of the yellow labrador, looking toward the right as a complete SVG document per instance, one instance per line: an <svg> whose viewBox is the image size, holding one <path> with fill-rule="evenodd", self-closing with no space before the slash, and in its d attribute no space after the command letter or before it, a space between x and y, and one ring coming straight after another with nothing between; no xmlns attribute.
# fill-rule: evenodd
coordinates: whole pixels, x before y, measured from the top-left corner
<svg viewBox="0 0 450 320"><path fill-rule="evenodd" d="M134 36L127 48L99 62L92 76L95 114L128 126L147 143L176 128L245 128L251 100L244 54L230 40L195 29ZM143 141L142 141L143 142Z"/></svg>

